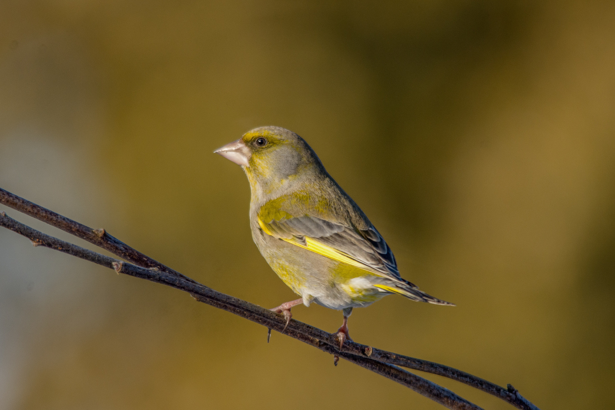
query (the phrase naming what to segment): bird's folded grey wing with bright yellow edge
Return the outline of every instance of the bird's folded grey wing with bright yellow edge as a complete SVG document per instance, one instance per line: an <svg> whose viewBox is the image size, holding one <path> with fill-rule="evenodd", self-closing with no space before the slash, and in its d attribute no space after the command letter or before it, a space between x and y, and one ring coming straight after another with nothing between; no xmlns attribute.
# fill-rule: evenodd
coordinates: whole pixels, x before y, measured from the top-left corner
<svg viewBox="0 0 615 410"><path fill-rule="evenodd" d="M285 211L277 211L275 215L269 211L257 217L261 229L274 238L414 286L400 277L391 248L371 224L367 229L358 229L340 221L327 221L322 212L319 216L308 214L309 211L295 217Z"/></svg>

